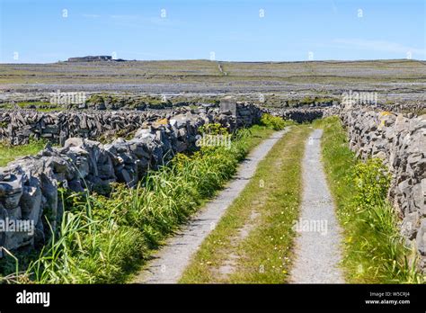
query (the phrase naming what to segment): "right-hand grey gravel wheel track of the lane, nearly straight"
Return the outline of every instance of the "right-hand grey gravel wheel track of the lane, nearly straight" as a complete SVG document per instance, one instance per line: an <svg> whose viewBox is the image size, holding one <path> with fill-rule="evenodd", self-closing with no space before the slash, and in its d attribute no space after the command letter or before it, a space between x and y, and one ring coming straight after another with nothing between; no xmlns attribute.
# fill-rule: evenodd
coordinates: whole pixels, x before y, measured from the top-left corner
<svg viewBox="0 0 426 313"><path fill-rule="evenodd" d="M296 258L290 275L293 283L343 283L339 268L341 229L321 162L323 130L314 130L306 142L303 159L304 192L297 223Z"/></svg>

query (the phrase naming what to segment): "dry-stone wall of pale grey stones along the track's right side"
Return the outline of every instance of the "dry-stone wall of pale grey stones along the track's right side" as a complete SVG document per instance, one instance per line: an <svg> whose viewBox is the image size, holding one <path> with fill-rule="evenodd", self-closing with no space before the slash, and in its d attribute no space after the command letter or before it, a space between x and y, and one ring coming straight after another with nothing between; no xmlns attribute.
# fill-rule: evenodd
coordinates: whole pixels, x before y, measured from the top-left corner
<svg viewBox="0 0 426 313"><path fill-rule="evenodd" d="M426 270L426 115L407 118L347 106L340 112L350 148L362 159L379 157L392 174L388 198L401 222L401 233L413 244Z"/></svg>

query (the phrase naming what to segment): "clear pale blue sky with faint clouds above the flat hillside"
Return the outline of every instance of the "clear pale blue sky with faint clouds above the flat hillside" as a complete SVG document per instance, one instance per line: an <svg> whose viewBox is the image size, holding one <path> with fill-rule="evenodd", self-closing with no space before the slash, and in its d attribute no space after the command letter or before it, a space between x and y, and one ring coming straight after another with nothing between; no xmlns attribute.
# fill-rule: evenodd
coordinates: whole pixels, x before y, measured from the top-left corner
<svg viewBox="0 0 426 313"><path fill-rule="evenodd" d="M1 63L426 59L425 0L0 0L0 10Z"/></svg>

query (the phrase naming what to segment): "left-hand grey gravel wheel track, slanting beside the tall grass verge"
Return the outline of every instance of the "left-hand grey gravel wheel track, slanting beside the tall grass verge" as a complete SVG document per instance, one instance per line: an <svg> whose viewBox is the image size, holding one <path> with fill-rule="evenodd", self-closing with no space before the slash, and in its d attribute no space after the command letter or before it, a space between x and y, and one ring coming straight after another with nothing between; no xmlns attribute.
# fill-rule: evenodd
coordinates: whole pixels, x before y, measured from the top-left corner
<svg viewBox="0 0 426 313"><path fill-rule="evenodd" d="M191 219L184 228L167 241L166 245L154 255L154 259L150 261L146 269L138 274L134 282L178 282L183 271L190 264L191 256L198 250L204 238L215 228L226 209L244 190L262 158L287 131L288 129L274 133L271 138L265 139L255 148L239 166L235 179L228 183L215 199L209 201L194 219Z"/></svg>

